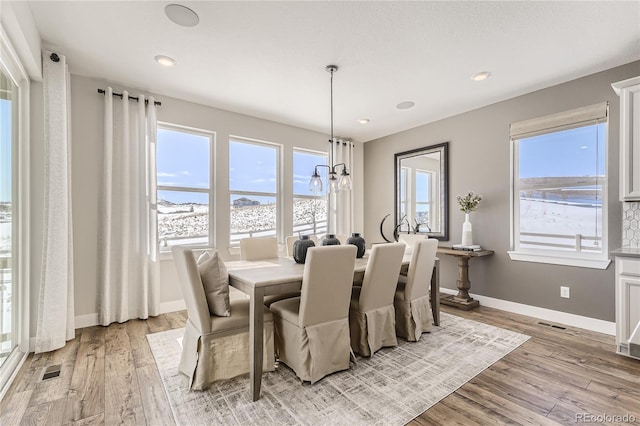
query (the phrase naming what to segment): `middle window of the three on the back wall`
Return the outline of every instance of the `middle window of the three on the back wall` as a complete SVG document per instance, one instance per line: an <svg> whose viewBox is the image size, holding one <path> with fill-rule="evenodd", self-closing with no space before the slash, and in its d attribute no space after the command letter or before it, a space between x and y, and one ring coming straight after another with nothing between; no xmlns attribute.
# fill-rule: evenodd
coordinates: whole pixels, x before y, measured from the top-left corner
<svg viewBox="0 0 640 426"><path fill-rule="evenodd" d="M229 140L230 245L246 237L278 236L277 145Z"/></svg>

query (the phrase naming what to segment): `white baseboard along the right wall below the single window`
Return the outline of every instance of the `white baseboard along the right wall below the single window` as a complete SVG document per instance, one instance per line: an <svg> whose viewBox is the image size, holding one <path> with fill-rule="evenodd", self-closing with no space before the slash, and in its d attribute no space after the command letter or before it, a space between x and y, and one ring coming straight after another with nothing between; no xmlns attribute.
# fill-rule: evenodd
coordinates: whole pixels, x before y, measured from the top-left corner
<svg viewBox="0 0 640 426"><path fill-rule="evenodd" d="M457 294L457 290L449 288L440 288L442 293ZM584 328L585 330L596 331L611 336L616 335L616 323L596 318L583 317L581 315L570 314L567 312L554 311L551 309L540 308L538 306L524 305L522 303L510 302L508 300L495 299L493 297L482 296L479 294L471 294L471 297L480 302L481 305L489 308L500 309L516 314L527 315L539 318L545 321L565 324L571 327Z"/></svg>

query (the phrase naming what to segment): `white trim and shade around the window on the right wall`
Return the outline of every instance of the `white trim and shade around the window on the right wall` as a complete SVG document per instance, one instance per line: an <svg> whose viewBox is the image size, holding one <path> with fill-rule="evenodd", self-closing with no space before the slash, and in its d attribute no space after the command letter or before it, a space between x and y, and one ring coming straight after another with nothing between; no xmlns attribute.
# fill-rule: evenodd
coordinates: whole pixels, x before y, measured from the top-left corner
<svg viewBox="0 0 640 426"><path fill-rule="evenodd" d="M517 246L516 240L516 229L520 228L520 215L517 209L516 203L519 200L515 184L515 177L518 175L518 144L517 140L523 139L529 136L533 136L536 134L544 134L544 133L553 133L557 131L561 131L567 128L577 128L586 126L589 123L587 120L594 120L597 118L599 111L602 109L608 110L608 103L600 103L595 104L583 108L577 108L572 111L567 111L566 113L552 114L545 117L534 118L531 120L526 120L520 123L512 124L511 128L511 138L510 138L510 219L511 219L511 229L510 229L510 241L512 250L508 251L509 258L513 261L522 261L522 262L534 262L534 263L546 263L551 265L563 265L563 266L575 266L581 268L592 268L592 269L607 269L611 260L609 259L609 249L608 249L608 240L609 240L609 208L608 208L608 200L609 200L609 188L608 188L608 179L609 179L609 136L608 136L608 111L606 112L606 120L607 120L607 140L605 143L605 179L602 184L602 251L601 253L574 253L567 251L552 251L552 250L535 250L535 249L522 249ZM567 114L568 113L568 114ZM575 120L573 124L571 124L571 120L574 119L575 116L581 117L581 119ZM560 117L560 118L559 118ZM538 123L536 123L538 122ZM535 127L539 126L540 128L545 128L544 123L551 123L546 127L545 131L536 132ZM533 123L533 125L532 125ZM539 125L539 123L543 123ZM523 130L525 129L525 130ZM516 133L521 133L516 135ZM528 132L528 135L524 133Z"/></svg>

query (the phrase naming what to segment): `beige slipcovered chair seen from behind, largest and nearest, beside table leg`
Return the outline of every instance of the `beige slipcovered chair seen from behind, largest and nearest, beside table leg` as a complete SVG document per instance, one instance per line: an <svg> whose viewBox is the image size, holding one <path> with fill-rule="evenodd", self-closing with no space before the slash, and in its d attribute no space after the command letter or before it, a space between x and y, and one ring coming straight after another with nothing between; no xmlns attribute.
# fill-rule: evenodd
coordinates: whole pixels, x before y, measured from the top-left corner
<svg viewBox="0 0 640 426"><path fill-rule="evenodd" d="M356 246L311 247L300 297L271 305L276 354L302 381L349 368L349 299Z"/></svg>

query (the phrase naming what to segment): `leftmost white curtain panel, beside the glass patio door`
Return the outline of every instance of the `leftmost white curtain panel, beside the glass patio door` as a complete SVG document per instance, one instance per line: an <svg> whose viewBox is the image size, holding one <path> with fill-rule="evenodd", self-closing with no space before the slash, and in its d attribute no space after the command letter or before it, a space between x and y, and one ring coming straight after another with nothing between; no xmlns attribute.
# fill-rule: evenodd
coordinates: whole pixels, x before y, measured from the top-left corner
<svg viewBox="0 0 640 426"><path fill-rule="evenodd" d="M69 71L66 58L49 51L42 66L45 198L36 353L75 337Z"/></svg>

